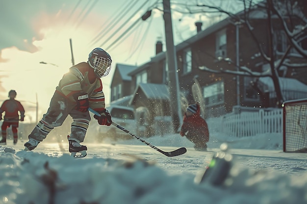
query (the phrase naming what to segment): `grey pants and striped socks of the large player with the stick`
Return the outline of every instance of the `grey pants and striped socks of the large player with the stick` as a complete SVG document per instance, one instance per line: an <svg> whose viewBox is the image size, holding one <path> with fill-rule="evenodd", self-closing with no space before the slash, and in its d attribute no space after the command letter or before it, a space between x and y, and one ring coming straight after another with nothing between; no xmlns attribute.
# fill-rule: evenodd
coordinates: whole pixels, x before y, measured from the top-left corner
<svg viewBox="0 0 307 204"><path fill-rule="evenodd" d="M47 113L43 115L43 118L35 126L28 138L43 141L54 127L61 126L66 117L70 115L74 120L71 124L70 138L83 142L91 116L89 112L79 112L74 109L75 107L75 104L55 91Z"/></svg>

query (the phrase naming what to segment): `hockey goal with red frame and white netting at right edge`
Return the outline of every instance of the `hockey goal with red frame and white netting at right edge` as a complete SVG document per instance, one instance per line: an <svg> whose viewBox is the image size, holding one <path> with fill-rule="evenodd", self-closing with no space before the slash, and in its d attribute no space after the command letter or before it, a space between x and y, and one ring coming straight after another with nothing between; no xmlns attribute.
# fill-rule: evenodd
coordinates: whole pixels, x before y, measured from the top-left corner
<svg viewBox="0 0 307 204"><path fill-rule="evenodd" d="M283 103L283 152L307 153L307 98Z"/></svg>

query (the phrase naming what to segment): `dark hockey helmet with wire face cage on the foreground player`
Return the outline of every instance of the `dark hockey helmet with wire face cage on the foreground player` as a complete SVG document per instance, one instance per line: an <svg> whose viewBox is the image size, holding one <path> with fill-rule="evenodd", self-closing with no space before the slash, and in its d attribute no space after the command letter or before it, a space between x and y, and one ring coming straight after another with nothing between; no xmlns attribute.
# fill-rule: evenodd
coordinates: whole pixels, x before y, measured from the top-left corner
<svg viewBox="0 0 307 204"><path fill-rule="evenodd" d="M87 62L94 68L96 76L101 78L110 72L112 59L106 51L97 47L90 52Z"/></svg>

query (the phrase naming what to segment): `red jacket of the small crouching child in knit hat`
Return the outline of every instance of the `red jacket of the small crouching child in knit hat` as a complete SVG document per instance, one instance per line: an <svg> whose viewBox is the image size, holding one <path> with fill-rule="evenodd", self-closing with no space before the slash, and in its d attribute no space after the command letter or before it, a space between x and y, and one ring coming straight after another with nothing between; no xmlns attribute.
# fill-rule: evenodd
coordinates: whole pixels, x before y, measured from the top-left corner
<svg viewBox="0 0 307 204"><path fill-rule="evenodd" d="M183 117L183 124L181 126L180 135L184 136L186 132L187 137L199 137L205 140L205 142L209 141L209 130L208 125L200 114L200 106L197 104L197 112L191 116L187 116L186 113Z"/></svg>

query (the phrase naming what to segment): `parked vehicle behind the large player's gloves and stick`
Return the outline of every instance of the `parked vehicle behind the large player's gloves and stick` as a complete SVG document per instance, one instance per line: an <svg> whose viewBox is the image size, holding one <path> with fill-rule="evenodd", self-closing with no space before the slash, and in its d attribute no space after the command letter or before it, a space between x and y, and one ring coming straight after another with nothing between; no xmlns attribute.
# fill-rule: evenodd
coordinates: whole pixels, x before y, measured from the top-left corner
<svg viewBox="0 0 307 204"><path fill-rule="evenodd" d="M145 129L145 127L140 127L138 125L138 121L135 118L134 109L126 106L112 105L110 107L106 107L106 110L112 116L112 121L127 129L132 134L137 135L140 133L141 129ZM99 125L97 131L97 139L98 141L102 141L108 137L109 139L130 139L131 135L125 133L114 125L106 126Z"/></svg>

